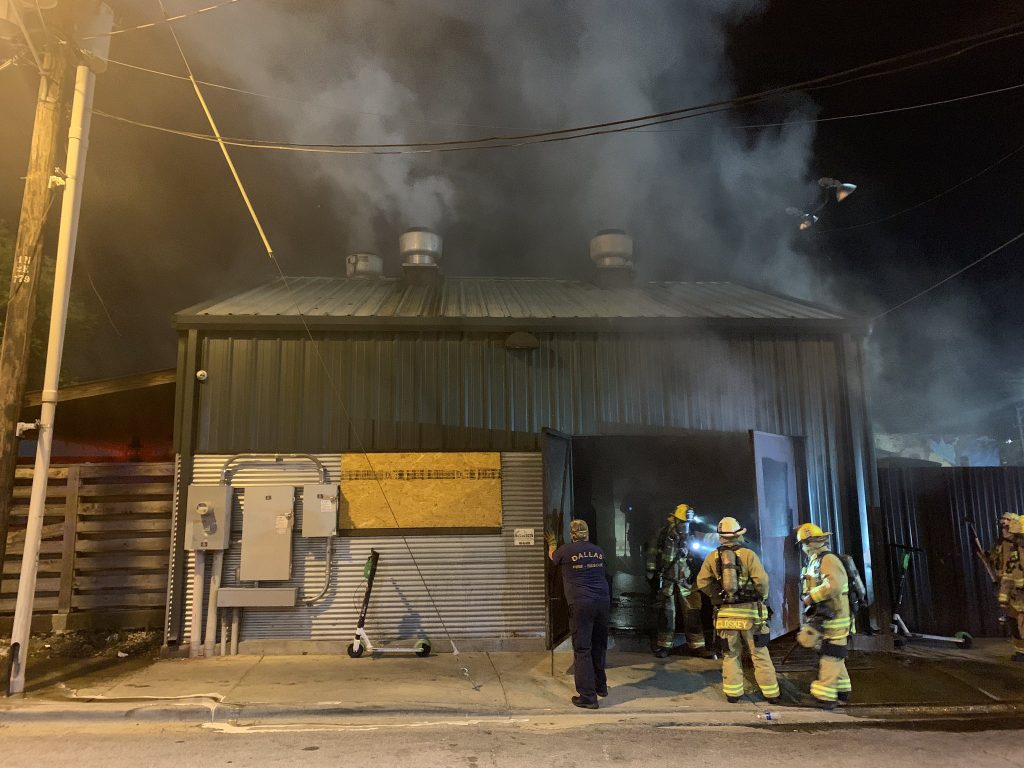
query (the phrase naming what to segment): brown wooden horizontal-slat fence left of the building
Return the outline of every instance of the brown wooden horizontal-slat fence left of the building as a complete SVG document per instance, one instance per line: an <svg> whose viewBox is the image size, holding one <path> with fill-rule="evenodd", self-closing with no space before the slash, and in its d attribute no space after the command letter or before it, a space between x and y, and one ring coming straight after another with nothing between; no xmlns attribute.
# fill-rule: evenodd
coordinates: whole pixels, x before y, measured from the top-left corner
<svg viewBox="0 0 1024 768"><path fill-rule="evenodd" d="M160 627L167 599L174 465L51 467L35 630ZM25 550L32 469L16 472L0 628L9 628Z"/></svg>

